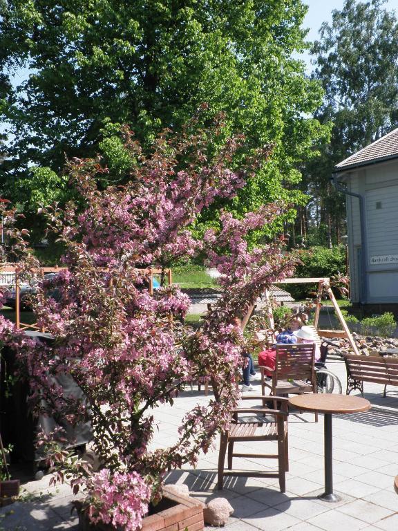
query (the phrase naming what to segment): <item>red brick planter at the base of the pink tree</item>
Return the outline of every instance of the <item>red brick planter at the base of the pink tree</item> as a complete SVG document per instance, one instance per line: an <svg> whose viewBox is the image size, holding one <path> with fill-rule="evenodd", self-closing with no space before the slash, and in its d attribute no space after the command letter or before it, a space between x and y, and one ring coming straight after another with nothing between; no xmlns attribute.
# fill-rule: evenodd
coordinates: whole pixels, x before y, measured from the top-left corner
<svg viewBox="0 0 398 531"><path fill-rule="evenodd" d="M189 496L173 494L167 485L163 487L163 497L158 508L159 512L145 516L142 531L201 531L205 527L202 503ZM89 523L86 514L79 512L79 530L115 531L115 528L113 525ZM122 531L122 528L117 531Z"/></svg>

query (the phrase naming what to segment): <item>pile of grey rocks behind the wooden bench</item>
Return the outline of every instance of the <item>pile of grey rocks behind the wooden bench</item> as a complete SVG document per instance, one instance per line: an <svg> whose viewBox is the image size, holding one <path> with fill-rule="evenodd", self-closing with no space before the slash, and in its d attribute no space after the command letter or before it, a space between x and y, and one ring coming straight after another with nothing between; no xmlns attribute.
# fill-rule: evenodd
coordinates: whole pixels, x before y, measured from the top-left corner
<svg viewBox="0 0 398 531"><path fill-rule="evenodd" d="M388 352L389 356L398 357L398 338L396 337L371 337L359 335L355 332L352 333L352 337L355 339L355 343L359 348L359 351L364 356L377 356L379 353L390 351L391 349L397 349L397 353ZM335 348L330 346L328 349L328 355L342 355L352 353L350 344L347 339L339 339L334 337L333 339L327 339L331 343L338 346Z"/></svg>

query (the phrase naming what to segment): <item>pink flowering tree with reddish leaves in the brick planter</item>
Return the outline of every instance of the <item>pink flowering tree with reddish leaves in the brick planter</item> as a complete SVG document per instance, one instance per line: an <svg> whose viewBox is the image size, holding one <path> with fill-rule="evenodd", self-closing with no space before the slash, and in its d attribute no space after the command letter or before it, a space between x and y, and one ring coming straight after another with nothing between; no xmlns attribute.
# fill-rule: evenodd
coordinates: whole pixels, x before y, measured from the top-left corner
<svg viewBox="0 0 398 531"><path fill-rule="evenodd" d="M196 136L165 131L146 156L125 129L132 164L124 187L97 186L107 172L100 158L70 161L76 203L44 210L66 249L67 269L41 284L35 306L38 324L53 344L28 341L0 317L3 342L18 346L35 411L62 416L72 426L91 421L97 472L59 449L59 433L41 442L57 478L66 477L73 492L86 495L93 522L139 528L164 474L184 463L195 465L200 450L209 449L238 400L245 339L234 317L292 272L291 259L278 245L249 249L246 243L250 232L281 214L279 205L265 205L240 220L221 212L217 230L193 237L190 227L202 209L216 198L233 197L269 155L265 149L232 171L243 138L227 139L214 153L211 138L221 131L220 124ZM23 241L23 234L17 239ZM189 308L187 296L164 286L164 275L151 296L143 268L156 264L164 270L198 252L222 274L225 291L205 325L192 330L179 320ZM26 268L32 270L32 263ZM58 297L48 297L49 287ZM84 398L64 393L57 383L64 373L73 376ZM172 404L185 385L203 378L211 381L214 398L184 417L172 447L150 450L153 409Z"/></svg>

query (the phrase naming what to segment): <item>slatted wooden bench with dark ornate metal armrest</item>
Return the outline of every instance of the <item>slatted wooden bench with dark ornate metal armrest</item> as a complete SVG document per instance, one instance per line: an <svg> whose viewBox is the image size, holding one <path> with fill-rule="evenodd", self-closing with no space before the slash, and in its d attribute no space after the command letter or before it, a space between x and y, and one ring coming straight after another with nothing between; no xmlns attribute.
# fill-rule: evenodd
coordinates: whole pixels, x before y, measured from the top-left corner
<svg viewBox="0 0 398 531"><path fill-rule="evenodd" d="M398 385L398 358L381 356L343 355L347 369L347 391L354 389L363 395L363 382L384 384L383 396L388 385Z"/></svg>

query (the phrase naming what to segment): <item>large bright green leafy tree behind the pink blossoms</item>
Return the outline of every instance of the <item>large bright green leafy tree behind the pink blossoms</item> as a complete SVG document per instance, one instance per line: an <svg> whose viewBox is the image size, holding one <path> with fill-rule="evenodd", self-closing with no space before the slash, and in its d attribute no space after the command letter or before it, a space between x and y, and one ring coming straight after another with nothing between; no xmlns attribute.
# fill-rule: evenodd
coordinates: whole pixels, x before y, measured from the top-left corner
<svg viewBox="0 0 398 531"><path fill-rule="evenodd" d="M109 180L123 182L131 161L119 124L150 149L160 129L180 128L205 102L201 126L222 111L227 134L244 133L248 149L274 145L230 208L303 202L299 167L323 136L308 118L321 87L292 58L305 47L306 9L301 0L0 0L8 175L30 178L30 165L59 172L66 157L102 150ZM15 86L10 73L21 68L29 75Z"/></svg>

